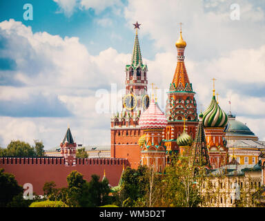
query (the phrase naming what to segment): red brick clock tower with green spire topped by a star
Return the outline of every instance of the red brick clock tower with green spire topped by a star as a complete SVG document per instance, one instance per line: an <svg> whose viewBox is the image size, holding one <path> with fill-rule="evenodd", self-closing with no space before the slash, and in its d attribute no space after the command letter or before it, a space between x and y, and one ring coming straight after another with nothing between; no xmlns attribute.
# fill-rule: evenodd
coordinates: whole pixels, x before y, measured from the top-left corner
<svg viewBox="0 0 265 221"><path fill-rule="evenodd" d="M138 39L138 29L141 24L136 22L133 25L136 29L135 43L130 64L125 67L126 94L122 97L122 111L111 117L110 155L126 158L129 166L137 169L141 154L138 140L144 134L143 129L139 127L139 118L149 106L149 97L147 94L148 68L141 59Z"/></svg>

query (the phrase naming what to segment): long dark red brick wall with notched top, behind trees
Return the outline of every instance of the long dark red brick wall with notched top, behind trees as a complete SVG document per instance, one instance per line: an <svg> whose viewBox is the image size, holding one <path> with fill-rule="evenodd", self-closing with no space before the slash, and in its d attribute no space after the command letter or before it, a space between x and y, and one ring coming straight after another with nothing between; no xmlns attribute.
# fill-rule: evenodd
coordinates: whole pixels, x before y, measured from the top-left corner
<svg viewBox="0 0 265 221"><path fill-rule="evenodd" d="M6 173L12 173L19 185L23 186L25 183L30 183L33 186L33 191L38 195L43 194L43 185L45 182L54 181L57 188L67 186L66 177L71 171L78 171L84 175L84 179L90 181L92 174L100 176L100 180L104 175L104 169L106 171L106 178L111 186L117 186L123 164L128 166L128 163L124 159L112 159L112 158L87 158L81 162L77 159L77 166L65 166L63 164L63 158L61 158L61 164L52 164L50 158L50 164L47 159L44 158L26 158L25 164L23 158L21 164L19 164L19 158L17 158L17 164L15 163L15 157L10 157L8 162L6 157L0 157L0 168L3 168ZM59 158L57 158L59 159ZM93 160L94 159L94 160ZM108 160L109 159L109 160ZM37 160L37 164L36 164ZM46 164L44 164L46 160ZM12 164L11 164L12 162ZM40 164L41 162L41 164ZM59 163L59 161L58 161Z"/></svg>

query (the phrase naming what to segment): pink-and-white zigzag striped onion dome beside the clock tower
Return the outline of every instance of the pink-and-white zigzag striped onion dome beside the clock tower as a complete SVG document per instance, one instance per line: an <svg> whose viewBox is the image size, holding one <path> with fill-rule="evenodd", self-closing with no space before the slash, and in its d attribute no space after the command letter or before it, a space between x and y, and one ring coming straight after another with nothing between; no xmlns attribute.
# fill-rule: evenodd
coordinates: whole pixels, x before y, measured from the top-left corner
<svg viewBox="0 0 265 221"><path fill-rule="evenodd" d="M160 110L157 102L152 99L149 107L141 114L139 119L140 128L164 128L167 124L166 116Z"/></svg>

